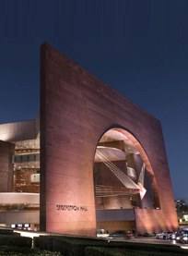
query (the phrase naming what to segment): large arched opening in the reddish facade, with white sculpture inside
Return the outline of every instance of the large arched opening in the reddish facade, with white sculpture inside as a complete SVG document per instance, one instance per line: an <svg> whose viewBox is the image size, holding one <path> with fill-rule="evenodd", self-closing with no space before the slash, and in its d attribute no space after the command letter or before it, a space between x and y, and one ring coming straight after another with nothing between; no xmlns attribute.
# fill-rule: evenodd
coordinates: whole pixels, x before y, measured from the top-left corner
<svg viewBox="0 0 188 256"><path fill-rule="evenodd" d="M99 140L94 157L94 188L97 229L135 232L135 208L160 208L147 153L123 128L111 128Z"/></svg>

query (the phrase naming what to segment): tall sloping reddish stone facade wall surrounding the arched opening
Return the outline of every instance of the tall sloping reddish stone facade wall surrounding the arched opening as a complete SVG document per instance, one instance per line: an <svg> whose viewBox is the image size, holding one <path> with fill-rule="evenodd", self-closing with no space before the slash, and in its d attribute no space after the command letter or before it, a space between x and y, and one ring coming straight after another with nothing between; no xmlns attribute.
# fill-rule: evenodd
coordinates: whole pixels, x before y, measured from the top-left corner
<svg viewBox="0 0 188 256"><path fill-rule="evenodd" d="M94 157L100 138L112 128L131 140L151 178L156 205L152 209L134 209L137 232L178 227L159 120L44 43L41 46L42 231L96 236Z"/></svg>

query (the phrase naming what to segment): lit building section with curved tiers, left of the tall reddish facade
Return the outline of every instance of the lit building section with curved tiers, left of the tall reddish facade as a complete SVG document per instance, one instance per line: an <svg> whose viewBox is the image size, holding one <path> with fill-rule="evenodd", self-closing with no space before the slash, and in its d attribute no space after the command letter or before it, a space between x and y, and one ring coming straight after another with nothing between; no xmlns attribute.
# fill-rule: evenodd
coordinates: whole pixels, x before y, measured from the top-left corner
<svg viewBox="0 0 188 256"><path fill-rule="evenodd" d="M0 173L0 225L39 228L39 118L0 125Z"/></svg>

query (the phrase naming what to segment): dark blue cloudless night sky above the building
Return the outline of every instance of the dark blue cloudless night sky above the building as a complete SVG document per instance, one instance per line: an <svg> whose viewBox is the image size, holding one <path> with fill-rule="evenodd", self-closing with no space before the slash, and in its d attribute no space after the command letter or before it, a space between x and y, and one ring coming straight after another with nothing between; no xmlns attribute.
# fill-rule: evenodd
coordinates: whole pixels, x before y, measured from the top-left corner
<svg viewBox="0 0 188 256"><path fill-rule="evenodd" d="M161 121L188 201L188 1L0 0L1 124L38 115L44 42Z"/></svg>

